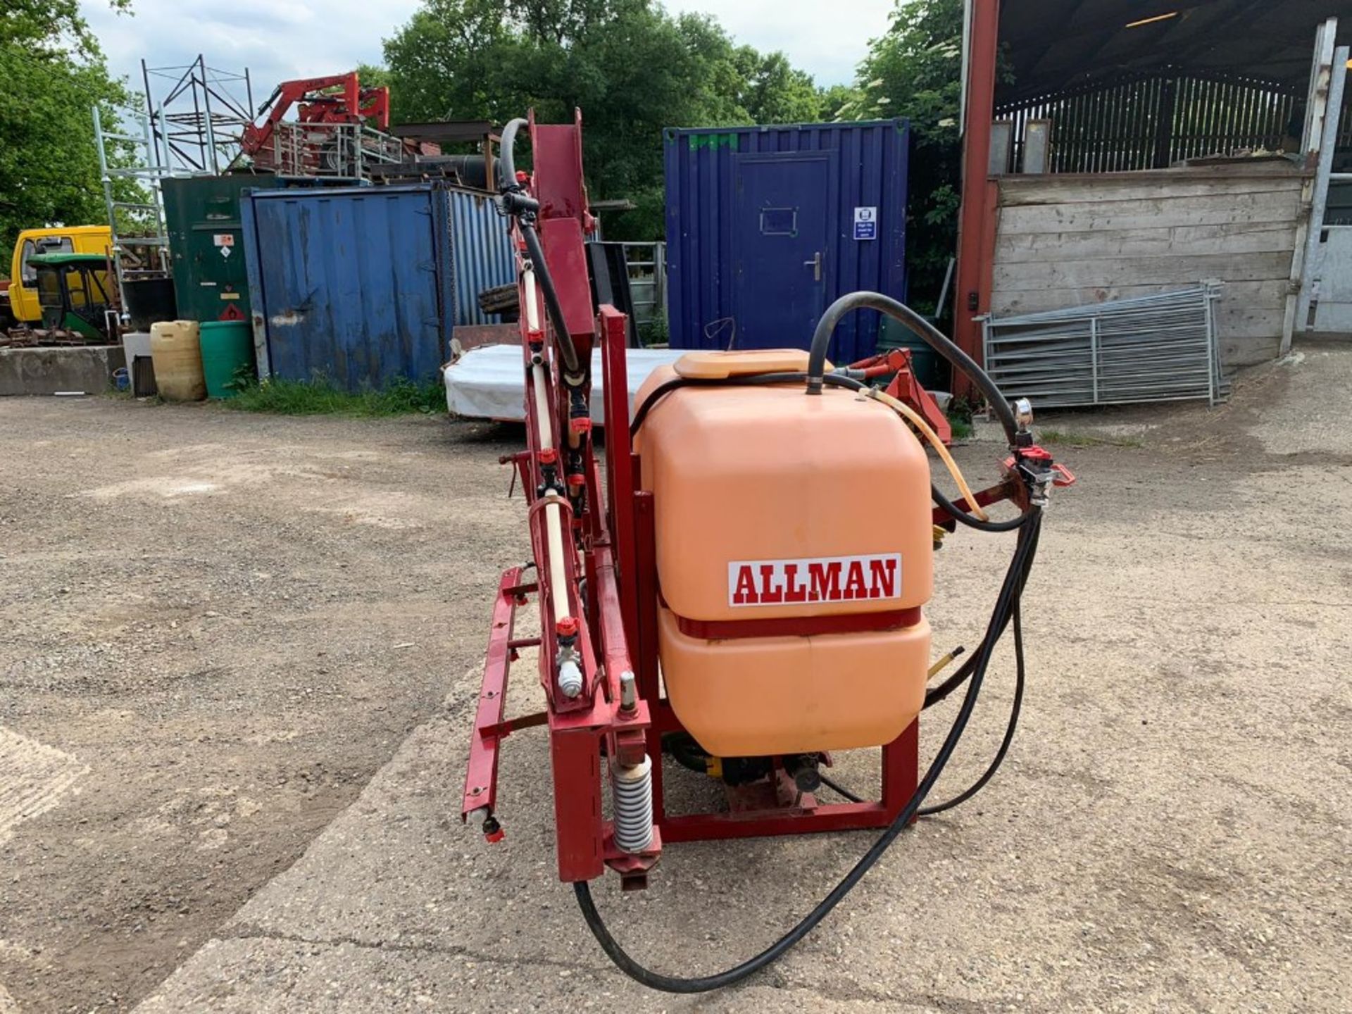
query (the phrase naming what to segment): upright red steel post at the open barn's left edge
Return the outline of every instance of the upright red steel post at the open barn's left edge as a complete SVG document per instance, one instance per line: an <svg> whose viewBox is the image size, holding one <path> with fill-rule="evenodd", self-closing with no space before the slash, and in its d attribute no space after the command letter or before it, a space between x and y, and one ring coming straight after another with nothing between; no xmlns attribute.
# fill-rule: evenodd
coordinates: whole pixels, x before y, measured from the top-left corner
<svg viewBox="0 0 1352 1014"><path fill-rule="evenodd" d="M991 122L995 116L995 62L999 50L999 0L971 0L967 122L963 134L963 210L959 219L957 288L953 337L982 362L982 327L973 316L991 308L991 250L995 243L995 184L990 181ZM953 393L971 396L972 383L953 377Z"/></svg>

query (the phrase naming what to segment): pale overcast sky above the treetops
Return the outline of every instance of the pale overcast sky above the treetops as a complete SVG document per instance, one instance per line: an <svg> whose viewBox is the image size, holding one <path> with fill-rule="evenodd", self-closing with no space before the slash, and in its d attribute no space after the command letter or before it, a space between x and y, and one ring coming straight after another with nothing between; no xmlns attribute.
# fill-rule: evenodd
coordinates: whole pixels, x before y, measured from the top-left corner
<svg viewBox="0 0 1352 1014"><path fill-rule="evenodd" d="M784 50L821 85L850 81L868 41L887 27L892 0L667 0L704 11L738 42ZM418 0L132 0L135 16L81 0L114 73L141 88L141 58L187 64L199 53L223 70L249 68L254 101L295 77L381 62L380 42ZM261 95L260 95L261 93Z"/></svg>

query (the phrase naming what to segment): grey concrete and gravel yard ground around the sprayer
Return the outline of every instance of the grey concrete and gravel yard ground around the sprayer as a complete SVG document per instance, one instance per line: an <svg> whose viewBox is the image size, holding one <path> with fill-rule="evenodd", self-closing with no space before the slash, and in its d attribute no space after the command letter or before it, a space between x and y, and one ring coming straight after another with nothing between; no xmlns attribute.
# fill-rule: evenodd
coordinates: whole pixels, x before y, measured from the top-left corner
<svg viewBox="0 0 1352 1014"><path fill-rule="evenodd" d="M1030 684L1005 768L904 834L771 971L699 998L644 991L592 942L554 877L538 731L504 746L506 842L458 822L491 585L526 546L519 502L496 499L515 434L0 403L19 487L0 564L20 594L0 604L18 634L0 641L0 723L34 744L50 803L0 844L0 983L26 1011L145 998L151 1014L1347 1010L1348 389L1352 346L1309 346L1218 410L1044 420L1080 485L1046 518L1025 598ZM984 479L995 453L959 457ZM1007 552L949 539L937 646L975 642ZM1009 662L940 795L994 750ZM534 708L530 679L514 710ZM938 711L927 749L953 704ZM347 753L323 815L256 773ZM0 779L4 757L0 741ZM849 756L838 777L867 788L875 769ZM258 794L262 810L230 802ZM695 776L675 794L710 798ZM646 964L710 972L772 941L869 841L673 846L649 891L608 877L598 904ZM110 915L119 883L151 902L141 929ZM184 946L155 925L199 909Z"/></svg>

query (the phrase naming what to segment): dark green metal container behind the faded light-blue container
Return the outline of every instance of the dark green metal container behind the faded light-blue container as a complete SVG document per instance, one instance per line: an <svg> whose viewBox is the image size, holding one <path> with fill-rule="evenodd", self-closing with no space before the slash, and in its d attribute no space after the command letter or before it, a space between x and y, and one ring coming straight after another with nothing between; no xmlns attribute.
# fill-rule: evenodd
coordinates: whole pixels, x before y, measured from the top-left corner
<svg viewBox="0 0 1352 1014"><path fill-rule="evenodd" d="M183 176L162 180L165 222L178 316L184 320L247 320L239 195L274 189L276 176Z"/></svg>

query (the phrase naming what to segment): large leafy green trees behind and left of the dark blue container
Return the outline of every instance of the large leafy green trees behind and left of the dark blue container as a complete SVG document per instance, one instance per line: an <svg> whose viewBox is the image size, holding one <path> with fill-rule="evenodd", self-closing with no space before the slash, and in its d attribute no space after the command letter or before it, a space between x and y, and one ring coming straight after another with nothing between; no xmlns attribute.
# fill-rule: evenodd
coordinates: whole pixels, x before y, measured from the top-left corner
<svg viewBox="0 0 1352 1014"><path fill-rule="evenodd" d="M506 123L534 107L560 123L581 108L591 196L637 204L606 220L612 239L662 234L664 127L813 122L827 105L783 53L654 0L423 0L385 64L396 120Z"/></svg>

